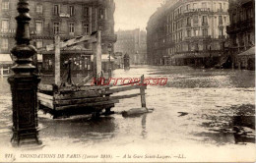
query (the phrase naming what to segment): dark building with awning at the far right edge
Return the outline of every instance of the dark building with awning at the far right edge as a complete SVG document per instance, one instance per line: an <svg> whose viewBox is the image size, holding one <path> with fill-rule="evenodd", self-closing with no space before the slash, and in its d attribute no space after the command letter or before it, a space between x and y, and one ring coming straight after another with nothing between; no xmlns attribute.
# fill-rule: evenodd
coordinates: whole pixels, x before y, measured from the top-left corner
<svg viewBox="0 0 256 163"><path fill-rule="evenodd" d="M235 68L255 69L255 1L229 0L229 52Z"/></svg>

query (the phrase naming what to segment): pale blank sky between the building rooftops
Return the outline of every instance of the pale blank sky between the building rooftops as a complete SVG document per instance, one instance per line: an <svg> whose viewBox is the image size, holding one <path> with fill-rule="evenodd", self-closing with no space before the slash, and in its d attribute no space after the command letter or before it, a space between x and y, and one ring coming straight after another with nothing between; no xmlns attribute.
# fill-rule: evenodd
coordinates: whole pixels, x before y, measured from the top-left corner
<svg viewBox="0 0 256 163"><path fill-rule="evenodd" d="M115 30L146 29L150 17L164 0L114 0Z"/></svg>

